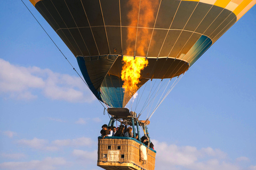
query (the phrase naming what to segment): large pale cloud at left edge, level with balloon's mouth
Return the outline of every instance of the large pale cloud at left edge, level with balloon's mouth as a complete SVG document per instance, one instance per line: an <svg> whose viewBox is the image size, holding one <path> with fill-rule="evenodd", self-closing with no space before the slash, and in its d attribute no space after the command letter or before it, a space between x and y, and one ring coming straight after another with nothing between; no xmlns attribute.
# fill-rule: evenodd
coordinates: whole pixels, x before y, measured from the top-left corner
<svg viewBox="0 0 256 170"><path fill-rule="evenodd" d="M0 94L10 98L31 100L36 90L53 100L90 103L95 97L79 77L54 73L39 67L12 65L0 58Z"/></svg>

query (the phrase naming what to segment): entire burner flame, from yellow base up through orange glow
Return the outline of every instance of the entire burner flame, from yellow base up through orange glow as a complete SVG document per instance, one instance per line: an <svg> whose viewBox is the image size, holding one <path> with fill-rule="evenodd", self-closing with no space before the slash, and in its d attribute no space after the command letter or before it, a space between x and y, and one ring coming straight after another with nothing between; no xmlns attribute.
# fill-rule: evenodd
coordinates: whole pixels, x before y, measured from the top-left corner
<svg viewBox="0 0 256 170"><path fill-rule="evenodd" d="M153 35L154 22L156 20L159 0L129 0L127 13L129 27L127 27L127 37L125 37L125 49L123 54L123 67L121 78L124 81L124 100L123 107L129 102L131 97L139 89L141 71L148 65L148 61L143 57L128 56L145 56L149 46L154 45L151 40ZM151 42L150 42L151 40Z"/></svg>

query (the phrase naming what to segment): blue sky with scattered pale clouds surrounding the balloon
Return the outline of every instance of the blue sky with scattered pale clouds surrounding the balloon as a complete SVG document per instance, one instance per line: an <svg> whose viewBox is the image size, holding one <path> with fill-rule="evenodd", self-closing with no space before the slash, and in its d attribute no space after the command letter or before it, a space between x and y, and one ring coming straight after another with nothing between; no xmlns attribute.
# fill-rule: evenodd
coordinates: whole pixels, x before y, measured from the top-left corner
<svg viewBox="0 0 256 170"><path fill-rule="evenodd" d="M101 169L97 137L109 121L102 105L21 1L4 1L0 21L0 169ZM253 6L159 106L148 127L156 169L256 169L255 28Z"/></svg>

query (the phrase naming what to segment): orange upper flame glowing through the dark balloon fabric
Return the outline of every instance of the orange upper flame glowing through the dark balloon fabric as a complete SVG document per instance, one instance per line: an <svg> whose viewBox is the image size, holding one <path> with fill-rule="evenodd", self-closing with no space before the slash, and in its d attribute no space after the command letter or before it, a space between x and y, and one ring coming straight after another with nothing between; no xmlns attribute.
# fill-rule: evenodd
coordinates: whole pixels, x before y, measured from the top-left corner
<svg viewBox="0 0 256 170"><path fill-rule="evenodd" d="M146 56L153 31L148 28L154 25L159 0L131 0L128 1L127 5L131 10L128 13L130 27L127 29L126 54L133 55L135 50L137 56ZM135 28L137 25L141 29ZM133 43L135 43L136 39L136 49L134 49ZM151 41L150 46L154 43L154 41Z"/></svg>

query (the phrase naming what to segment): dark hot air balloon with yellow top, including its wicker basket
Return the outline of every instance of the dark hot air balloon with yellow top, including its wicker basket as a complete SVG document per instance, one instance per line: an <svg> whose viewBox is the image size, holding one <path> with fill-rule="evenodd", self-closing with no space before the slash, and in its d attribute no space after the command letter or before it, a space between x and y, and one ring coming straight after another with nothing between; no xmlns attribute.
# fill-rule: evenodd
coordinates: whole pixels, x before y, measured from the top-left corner
<svg viewBox="0 0 256 170"><path fill-rule="evenodd" d="M75 55L93 94L109 107L109 125L115 120L126 121L133 129L141 124L145 133L149 119L139 121L141 113L135 116L124 108L134 94L147 82L170 80L184 74L256 3L252 0L30 2ZM135 66L129 68L131 65ZM135 71L139 77L135 78L133 69L139 65L142 67ZM131 70L133 72L129 73ZM127 79L124 78L126 74ZM133 79L137 82L131 88ZM165 88L158 86L156 91L159 89ZM150 98L151 91L149 93ZM164 99L166 95L161 97ZM154 150L149 149L152 159L148 162L152 164L143 164L139 157L131 161L135 153L138 155L135 144L130 143L126 148L126 152L137 148L132 156L121 154L127 144L122 144L121 139L109 137L104 140L99 138L99 166L105 169L154 169ZM112 144L107 144L107 140Z"/></svg>

